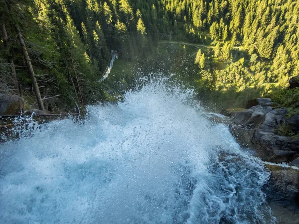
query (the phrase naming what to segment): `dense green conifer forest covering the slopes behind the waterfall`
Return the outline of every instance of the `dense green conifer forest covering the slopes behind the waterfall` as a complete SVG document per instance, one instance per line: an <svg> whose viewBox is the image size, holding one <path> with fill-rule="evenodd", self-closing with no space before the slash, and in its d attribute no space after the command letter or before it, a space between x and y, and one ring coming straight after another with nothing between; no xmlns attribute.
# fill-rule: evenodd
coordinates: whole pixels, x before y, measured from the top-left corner
<svg viewBox="0 0 299 224"><path fill-rule="evenodd" d="M110 50L145 64L160 54L161 40L207 46L194 63L197 85L212 92L267 93L285 88L299 73L296 0L0 0L0 5L0 90L28 101L35 95L39 103L31 103L40 109L104 100L107 87L98 80Z"/></svg>

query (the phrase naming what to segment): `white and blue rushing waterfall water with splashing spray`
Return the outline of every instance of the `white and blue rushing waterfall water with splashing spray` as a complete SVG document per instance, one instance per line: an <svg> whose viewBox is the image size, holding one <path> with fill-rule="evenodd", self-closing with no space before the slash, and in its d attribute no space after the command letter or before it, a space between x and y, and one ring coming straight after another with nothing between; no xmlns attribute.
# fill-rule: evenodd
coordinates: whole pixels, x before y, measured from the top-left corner
<svg viewBox="0 0 299 224"><path fill-rule="evenodd" d="M0 223L274 222L263 163L191 98L152 83L0 144Z"/></svg>

